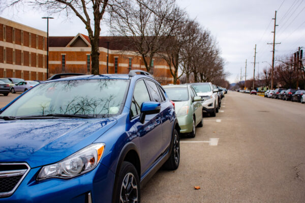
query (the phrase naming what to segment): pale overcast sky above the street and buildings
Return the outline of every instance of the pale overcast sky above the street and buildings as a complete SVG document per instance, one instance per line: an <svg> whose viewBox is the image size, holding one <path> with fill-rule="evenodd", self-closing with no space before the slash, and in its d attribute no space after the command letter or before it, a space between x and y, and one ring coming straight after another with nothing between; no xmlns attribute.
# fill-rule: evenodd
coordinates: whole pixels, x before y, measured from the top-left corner
<svg viewBox="0 0 305 203"><path fill-rule="evenodd" d="M191 18L211 31L222 50L227 79L233 83L240 69L245 79L247 59L247 79L253 78L254 47L257 45L256 76L272 62L273 25L277 10L276 57L289 56L298 47L305 45L305 1L303 0L177 0L181 8L188 11ZM26 7L16 12L5 10L1 17L46 31L46 16L42 11ZM87 35L84 24L77 17L67 19L64 15L53 15L49 21L50 36ZM102 26L101 36L109 35ZM263 62L267 61L267 62ZM269 64L268 64L269 63Z"/></svg>

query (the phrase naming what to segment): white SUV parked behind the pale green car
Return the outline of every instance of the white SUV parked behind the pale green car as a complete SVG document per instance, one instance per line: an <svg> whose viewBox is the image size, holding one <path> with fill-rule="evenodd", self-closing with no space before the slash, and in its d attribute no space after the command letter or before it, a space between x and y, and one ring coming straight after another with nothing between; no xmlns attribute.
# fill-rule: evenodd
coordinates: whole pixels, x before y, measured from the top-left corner
<svg viewBox="0 0 305 203"><path fill-rule="evenodd" d="M201 96L202 112L209 113L215 117L218 113L218 89L215 89L212 83L192 83L192 87L198 96Z"/></svg>

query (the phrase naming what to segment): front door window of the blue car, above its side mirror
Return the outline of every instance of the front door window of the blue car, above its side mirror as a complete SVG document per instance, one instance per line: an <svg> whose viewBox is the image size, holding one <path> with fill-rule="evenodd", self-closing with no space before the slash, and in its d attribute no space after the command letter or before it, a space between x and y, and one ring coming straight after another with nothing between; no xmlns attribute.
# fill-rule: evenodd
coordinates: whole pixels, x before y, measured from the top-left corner
<svg viewBox="0 0 305 203"><path fill-rule="evenodd" d="M140 114L141 105L145 101L150 101L150 97L144 80L140 80L135 85L134 95L130 107L131 117Z"/></svg>

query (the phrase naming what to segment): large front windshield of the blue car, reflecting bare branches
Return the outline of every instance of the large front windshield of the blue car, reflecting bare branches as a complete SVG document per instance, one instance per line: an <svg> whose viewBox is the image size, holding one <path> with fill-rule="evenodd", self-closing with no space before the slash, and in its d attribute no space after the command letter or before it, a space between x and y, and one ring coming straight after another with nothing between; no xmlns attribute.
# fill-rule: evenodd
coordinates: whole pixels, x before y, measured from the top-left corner
<svg viewBox="0 0 305 203"><path fill-rule="evenodd" d="M68 80L41 83L23 94L0 116L49 114L102 118L120 114L129 80Z"/></svg>

